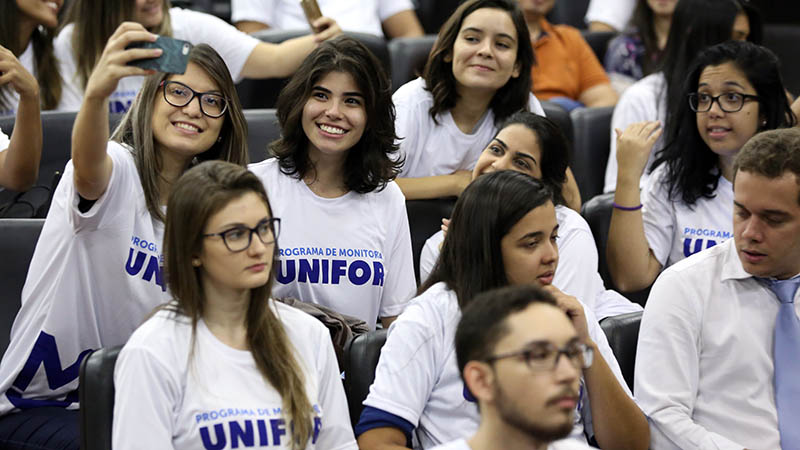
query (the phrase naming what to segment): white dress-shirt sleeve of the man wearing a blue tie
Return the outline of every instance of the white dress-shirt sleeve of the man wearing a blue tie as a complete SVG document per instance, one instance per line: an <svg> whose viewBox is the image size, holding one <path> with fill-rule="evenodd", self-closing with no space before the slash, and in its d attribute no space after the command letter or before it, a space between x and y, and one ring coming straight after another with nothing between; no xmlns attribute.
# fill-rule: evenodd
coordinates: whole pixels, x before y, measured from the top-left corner
<svg viewBox="0 0 800 450"><path fill-rule="evenodd" d="M703 303L667 269L647 300L636 348L634 389L650 422L652 448L744 448L692 419L700 379ZM733 374L731 374L733 376ZM712 394L713 395L713 394ZM732 412L733 413L733 412Z"/></svg>

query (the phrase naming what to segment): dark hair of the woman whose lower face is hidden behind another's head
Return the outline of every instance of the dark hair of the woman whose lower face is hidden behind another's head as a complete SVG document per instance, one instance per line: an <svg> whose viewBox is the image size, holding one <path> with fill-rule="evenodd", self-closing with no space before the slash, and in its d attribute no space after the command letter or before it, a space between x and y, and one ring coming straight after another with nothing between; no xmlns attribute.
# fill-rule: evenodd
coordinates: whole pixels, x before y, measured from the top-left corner
<svg viewBox="0 0 800 450"><path fill-rule="evenodd" d="M531 130L539 140L539 148L542 150L542 183L544 183L553 194L553 203L563 205L564 195L562 187L567 182L567 166L569 165L569 142L567 141L561 128L548 119L528 111L517 111L503 122L500 131L511 125L524 125ZM497 135L495 135L497 137Z"/></svg>

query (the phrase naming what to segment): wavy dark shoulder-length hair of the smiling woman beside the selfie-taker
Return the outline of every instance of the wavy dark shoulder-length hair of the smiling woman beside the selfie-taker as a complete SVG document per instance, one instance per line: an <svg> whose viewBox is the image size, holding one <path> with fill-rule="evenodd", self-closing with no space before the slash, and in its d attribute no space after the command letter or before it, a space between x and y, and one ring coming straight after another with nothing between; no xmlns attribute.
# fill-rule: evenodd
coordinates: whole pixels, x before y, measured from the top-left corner
<svg viewBox="0 0 800 450"><path fill-rule="evenodd" d="M347 152L345 186L364 194L386 187L397 177L402 158L394 129L395 111L389 76L378 58L357 40L339 36L323 42L303 60L277 102L281 137L270 144L281 172L302 179L313 171L308 157L308 137L303 131L303 108L315 84L331 72L349 74L364 95L367 123L364 134Z"/></svg>

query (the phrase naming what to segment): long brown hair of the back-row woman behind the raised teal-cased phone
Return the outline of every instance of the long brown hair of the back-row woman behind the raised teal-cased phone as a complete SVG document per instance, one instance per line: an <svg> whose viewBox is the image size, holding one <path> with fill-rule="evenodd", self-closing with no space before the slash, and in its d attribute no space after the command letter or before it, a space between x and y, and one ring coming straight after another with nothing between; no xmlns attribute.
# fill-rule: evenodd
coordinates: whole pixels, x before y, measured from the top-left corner
<svg viewBox="0 0 800 450"><path fill-rule="evenodd" d="M170 0L163 0L164 20L150 29L155 34L172 36ZM14 3L14 0L10 0ZM67 8L64 26L72 23L72 53L77 66L78 81L83 89L94 66L100 60L108 38L122 22L132 21L136 0L72 0ZM64 74L72 76L72 74Z"/></svg>

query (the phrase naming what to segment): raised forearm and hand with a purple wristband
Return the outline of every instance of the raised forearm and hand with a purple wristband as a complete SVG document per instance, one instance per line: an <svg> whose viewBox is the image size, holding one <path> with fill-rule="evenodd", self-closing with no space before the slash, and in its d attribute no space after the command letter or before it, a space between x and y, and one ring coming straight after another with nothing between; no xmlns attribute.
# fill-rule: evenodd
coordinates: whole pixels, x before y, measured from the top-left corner
<svg viewBox="0 0 800 450"><path fill-rule="evenodd" d="M661 271L644 234L639 179L662 129L653 121L616 132L619 168L606 256L614 283L621 291L631 292L650 286Z"/></svg>

